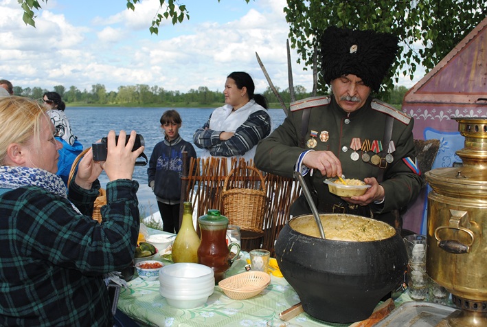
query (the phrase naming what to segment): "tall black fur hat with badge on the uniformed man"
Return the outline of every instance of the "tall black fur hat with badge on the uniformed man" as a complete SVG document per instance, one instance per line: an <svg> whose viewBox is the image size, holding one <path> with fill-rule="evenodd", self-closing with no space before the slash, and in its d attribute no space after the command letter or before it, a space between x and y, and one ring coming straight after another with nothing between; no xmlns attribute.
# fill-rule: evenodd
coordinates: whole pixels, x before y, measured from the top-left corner
<svg viewBox="0 0 487 327"><path fill-rule="evenodd" d="M328 27L321 36L321 70L330 84L343 75L356 75L378 91L398 52L398 37L372 30Z"/></svg>

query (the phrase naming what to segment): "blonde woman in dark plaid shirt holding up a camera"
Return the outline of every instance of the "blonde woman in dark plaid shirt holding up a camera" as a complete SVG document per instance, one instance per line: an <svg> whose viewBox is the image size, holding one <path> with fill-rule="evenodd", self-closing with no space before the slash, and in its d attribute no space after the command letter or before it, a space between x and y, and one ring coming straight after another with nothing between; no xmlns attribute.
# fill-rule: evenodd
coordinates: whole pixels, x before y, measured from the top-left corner
<svg viewBox="0 0 487 327"><path fill-rule="evenodd" d="M0 99L0 326L113 326L103 275L133 260L139 232L135 131L108 135L106 161L91 150L69 186L56 175L60 142L46 109ZM120 131L122 139L126 133ZM91 218L104 170L108 203Z"/></svg>

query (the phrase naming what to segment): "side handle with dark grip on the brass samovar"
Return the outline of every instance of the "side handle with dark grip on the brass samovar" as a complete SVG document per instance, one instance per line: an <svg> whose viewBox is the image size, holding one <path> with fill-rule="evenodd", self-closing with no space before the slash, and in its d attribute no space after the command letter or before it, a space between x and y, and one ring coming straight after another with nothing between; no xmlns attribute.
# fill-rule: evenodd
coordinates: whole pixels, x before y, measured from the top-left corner
<svg viewBox="0 0 487 327"><path fill-rule="evenodd" d="M449 226L440 226L435 229L435 238L437 240L437 245L440 249L443 249L446 252L453 253L453 254L461 254L461 253L469 253L470 247L473 245L475 241L475 235L470 229L460 226L460 220L466 217L466 211L458 211L458 210L450 210L451 217L450 217L450 225ZM466 218L468 219L468 218ZM456 229L458 231L465 232L466 234L470 235L472 241L465 245L458 240L442 240L440 236L438 236L438 232L440 229Z"/></svg>

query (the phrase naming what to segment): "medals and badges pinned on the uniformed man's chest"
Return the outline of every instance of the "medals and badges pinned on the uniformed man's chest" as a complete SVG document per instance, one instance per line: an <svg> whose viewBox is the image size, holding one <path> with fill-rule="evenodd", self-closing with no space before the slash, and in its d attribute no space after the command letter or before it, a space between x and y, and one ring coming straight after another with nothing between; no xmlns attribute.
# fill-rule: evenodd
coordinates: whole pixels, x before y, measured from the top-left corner
<svg viewBox="0 0 487 327"><path fill-rule="evenodd" d="M317 135L318 135L317 131L311 131L310 133L311 138L308 139L308 142L306 142L308 148L315 148L317 146L318 142L315 139ZM319 140L321 142L328 142L328 139L329 139L328 131L321 131L321 133L319 133ZM350 143L350 148L354 150L354 152L350 155L350 159L352 159L353 161L357 161L359 160L360 157L362 157L362 160L364 162L370 161L370 163L373 165L381 164L381 157L377 155L377 153L380 153L383 149L382 141L380 139L375 139L374 141L372 141L371 144L369 139L365 139L363 140L363 142L361 142L361 139L359 137L354 137L352 138L352 142ZM359 153L356 152L357 150L361 150L362 155L359 155ZM372 155L372 157L370 157L370 155L367 153L371 150L374 153L376 153L375 155ZM394 157L392 156L392 153L394 153L395 150L396 147L394 146L394 141L391 140L387 148L387 155L384 158L388 164L394 161Z"/></svg>

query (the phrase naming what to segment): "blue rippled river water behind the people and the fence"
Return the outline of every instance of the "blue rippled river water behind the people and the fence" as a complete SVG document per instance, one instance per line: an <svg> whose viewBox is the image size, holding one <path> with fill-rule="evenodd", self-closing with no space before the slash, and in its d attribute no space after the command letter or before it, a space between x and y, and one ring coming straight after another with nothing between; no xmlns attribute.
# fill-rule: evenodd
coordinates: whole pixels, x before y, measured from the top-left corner
<svg viewBox="0 0 487 327"><path fill-rule="evenodd" d="M74 135L83 144L84 148L91 146L96 140L106 136L110 130L117 134L120 130L137 131L144 137L147 157L150 158L155 144L163 139L163 130L159 120L164 111L170 108L122 108L122 107L68 107L65 110ZM196 128L205 124L213 108L177 108L181 115L183 125L179 133L183 139L192 143L193 133ZM286 115L282 109L269 109L272 126L275 128L284 121ZM201 150L196 148L199 155ZM141 208L141 214L157 212L155 195L147 185L147 167L135 166L133 179L139 182L137 197ZM103 173L100 182L104 188L108 179Z"/></svg>

